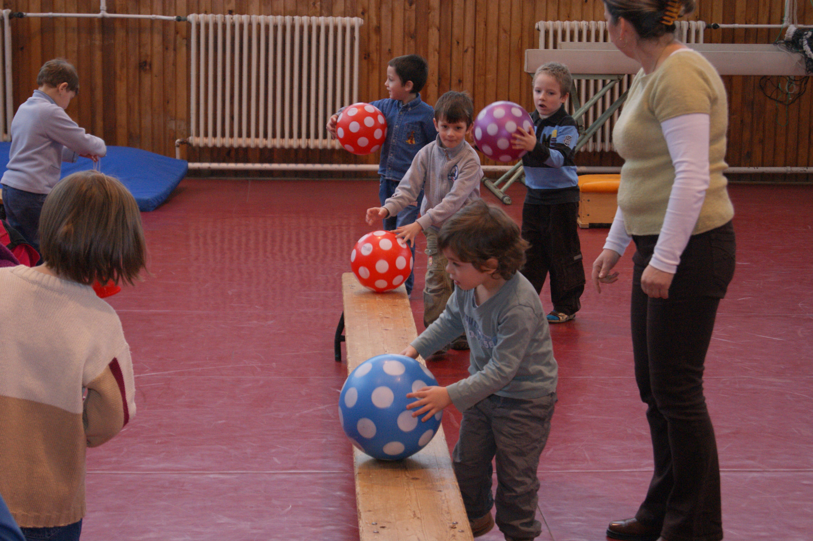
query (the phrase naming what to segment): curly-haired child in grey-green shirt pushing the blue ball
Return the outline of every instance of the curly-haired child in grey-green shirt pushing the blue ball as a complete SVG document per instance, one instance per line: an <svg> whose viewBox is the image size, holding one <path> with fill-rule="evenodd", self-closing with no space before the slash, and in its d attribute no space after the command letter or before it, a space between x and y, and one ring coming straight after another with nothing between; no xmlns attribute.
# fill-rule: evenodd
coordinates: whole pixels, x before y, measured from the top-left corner
<svg viewBox="0 0 813 541"><path fill-rule="evenodd" d="M465 331L471 375L411 392L406 396L418 400L406 407L424 421L450 404L463 412L454 474L475 537L493 527L496 504L496 522L508 541L534 539L541 531L537 466L554 413L557 365L539 294L517 272L528 243L502 209L478 200L444 224L438 245L449 261L454 294L402 354L425 357Z"/></svg>

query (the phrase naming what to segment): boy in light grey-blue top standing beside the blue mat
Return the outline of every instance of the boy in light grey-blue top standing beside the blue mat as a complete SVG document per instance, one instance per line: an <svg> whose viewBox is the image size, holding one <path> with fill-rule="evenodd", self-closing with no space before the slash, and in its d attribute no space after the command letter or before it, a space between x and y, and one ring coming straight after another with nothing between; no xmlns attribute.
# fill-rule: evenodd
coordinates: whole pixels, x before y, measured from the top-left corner
<svg viewBox="0 0 813 541"><path fill-rule="evenodd" d="M9 161L0 183L7 222L39 251L42 201L59 182L59 163L76 162L77 156L97 161L107 154L107 147L65 112L79 92L75 67L62 58L49 60L41 67L37 84L40 88L11 121Z"/></svg>

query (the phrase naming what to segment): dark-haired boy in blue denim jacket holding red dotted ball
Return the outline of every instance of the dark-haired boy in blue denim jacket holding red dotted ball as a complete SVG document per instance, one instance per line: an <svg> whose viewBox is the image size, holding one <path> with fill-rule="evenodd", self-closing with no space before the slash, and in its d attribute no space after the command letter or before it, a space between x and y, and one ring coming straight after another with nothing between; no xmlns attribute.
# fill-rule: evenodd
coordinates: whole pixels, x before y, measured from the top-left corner
<svg viewBox="0 0 813 541"><path fill-rule="evenodd" d="M387 66L387 80L384 81L389 99L371 102L371 105L378 107L387 119L387 134L384 145L381 145L378 167L378 175L381 177L378 197L381 205L395 193L395 188L398 188L398 183L409 169L415 154L437 137L437 130L432 121L432 106L420 99L420 91L426 84L428 74L426 60L417 54L393 58ZM334 137L338 119L336 114L328 120L328 132ZM416 200L411 201L411 204L404 207L398 215L385 219L385 231L393 231L396 227L415 222L423 197L424 193L419 193ZM415 259L415 244L411 245L411 249L412 258ZM407 295L412 292L413 283L415 272L410 273L404 284Z"/></svg>

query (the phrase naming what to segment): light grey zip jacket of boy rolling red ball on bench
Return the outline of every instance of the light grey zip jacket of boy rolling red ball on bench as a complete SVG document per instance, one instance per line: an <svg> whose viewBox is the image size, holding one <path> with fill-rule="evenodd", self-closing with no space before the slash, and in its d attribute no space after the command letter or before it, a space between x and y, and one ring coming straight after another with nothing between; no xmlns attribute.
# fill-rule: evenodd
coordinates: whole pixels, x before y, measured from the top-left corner
<svg viewBox="0 0 813 541"><path fill-rule="evenodd" d="M480 157L465 140L454 149L441 144L441 136L415 154L411 167L395 189L393 197L384 203L389 215L398 214L418 200L424 189L420 218L421 229L440 229L452 214L480 198L483 170Z"/></svg>

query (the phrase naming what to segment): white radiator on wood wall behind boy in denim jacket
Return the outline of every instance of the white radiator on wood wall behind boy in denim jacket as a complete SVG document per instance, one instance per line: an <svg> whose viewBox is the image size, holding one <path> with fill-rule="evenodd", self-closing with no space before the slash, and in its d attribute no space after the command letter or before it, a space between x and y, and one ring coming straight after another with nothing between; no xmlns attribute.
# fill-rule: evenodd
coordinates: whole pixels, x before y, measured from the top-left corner
<svg viewBox="0 0 813 541"><path fill-rule="evenodd" d="M358 101L358 17L188 15L195 146L339 148L328 117ZM192 164L190 164L191 166Z"/></svg>

